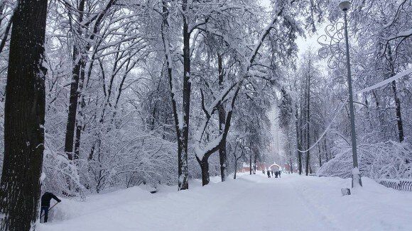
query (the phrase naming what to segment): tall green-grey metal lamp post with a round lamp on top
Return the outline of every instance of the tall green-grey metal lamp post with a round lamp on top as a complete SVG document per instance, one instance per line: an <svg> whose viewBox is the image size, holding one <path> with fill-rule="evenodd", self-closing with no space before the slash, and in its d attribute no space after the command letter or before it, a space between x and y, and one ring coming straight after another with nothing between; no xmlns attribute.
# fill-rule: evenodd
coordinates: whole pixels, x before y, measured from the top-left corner
<svg viewBox="0 0 412 231"><path fill-rule="evenodd" d="M356 186L362 186L362 179L357 164L357 146L356 146L356 133L354 130L354 111L353 111L353 96L352 96L352 77L350 72L350 59L349 59L349 41L347 38L347 10L350 8L350 1L342 0L339 3L340 9L345 15L345 40L346 40L346 66L347 66L347 85L349 87L349 112L350 112L350 130L352 136L352 188Z"/></svg>

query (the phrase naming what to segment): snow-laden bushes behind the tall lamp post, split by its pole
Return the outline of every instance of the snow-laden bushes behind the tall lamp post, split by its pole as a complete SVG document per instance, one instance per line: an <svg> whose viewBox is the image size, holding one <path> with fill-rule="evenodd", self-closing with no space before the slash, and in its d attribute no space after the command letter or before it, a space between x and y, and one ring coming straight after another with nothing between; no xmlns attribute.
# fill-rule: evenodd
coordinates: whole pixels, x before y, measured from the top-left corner
<svg viewBox="0 0 412 231"><path fill-rule="evenodd" d="M408 142L378 142L358 145L359 170L362 176L372 179L412 179L412 145ZM350 177L352 171L352 147L335 147L335 155L323 164L318 174L322 176Z"/></svg>

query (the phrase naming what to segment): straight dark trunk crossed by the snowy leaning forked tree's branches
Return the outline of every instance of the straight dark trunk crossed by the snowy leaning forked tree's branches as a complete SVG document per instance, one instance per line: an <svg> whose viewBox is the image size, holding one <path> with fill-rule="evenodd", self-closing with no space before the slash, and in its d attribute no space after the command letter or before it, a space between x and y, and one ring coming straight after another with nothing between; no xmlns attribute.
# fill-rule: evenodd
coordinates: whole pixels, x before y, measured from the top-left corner
<svg viewBox="0 0 412 231"><path fill-rule="evenodd" d="M219 89L223 90L223 64L222 55L217 55L217 64L219 69ZM219 132L222 133L224 125L226 124L226 112L224 111L223 103L219 105ZM220 161L220 176L222 181L226 180L227 176L227 153L226 153L226 139L223 140L223 144L219 148L219 161Z"/></svg>

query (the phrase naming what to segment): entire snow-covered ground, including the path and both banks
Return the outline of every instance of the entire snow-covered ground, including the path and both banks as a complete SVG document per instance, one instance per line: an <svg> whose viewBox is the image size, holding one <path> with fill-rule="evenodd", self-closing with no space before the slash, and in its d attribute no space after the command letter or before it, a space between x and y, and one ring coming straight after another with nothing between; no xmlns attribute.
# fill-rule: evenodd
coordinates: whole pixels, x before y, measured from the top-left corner
<svg viewBox="0 0 412 231"><path fill-rule="evenodd" d="M412 193L362 178L364 188L341 196L350 179L242 174L188 191L139 187L63 199L40 231L104 230L412 230Z"/></svg>

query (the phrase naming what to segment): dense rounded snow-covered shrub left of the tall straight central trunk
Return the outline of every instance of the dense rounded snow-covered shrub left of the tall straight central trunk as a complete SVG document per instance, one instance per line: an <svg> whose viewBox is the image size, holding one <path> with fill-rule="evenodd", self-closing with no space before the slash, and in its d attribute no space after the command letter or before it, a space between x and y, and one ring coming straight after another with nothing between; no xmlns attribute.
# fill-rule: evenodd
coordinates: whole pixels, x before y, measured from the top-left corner
<svg viewBox="0 0 412 231"><path fill-rule="evenodd" d="M159 137L156 130L127 123L107 129L99 139L93 157L87 160L87 169L82 171L87 172L83 184L92 191L177 182L177 147Z"/></svg>

